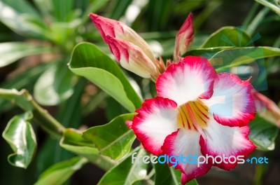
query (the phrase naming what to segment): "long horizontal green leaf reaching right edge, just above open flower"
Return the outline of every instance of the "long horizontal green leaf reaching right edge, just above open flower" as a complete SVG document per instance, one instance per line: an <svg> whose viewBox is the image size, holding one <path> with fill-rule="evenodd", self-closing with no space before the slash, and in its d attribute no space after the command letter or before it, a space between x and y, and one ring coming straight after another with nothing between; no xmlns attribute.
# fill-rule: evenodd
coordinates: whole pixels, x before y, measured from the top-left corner
<svg viewBox="0 0 280 185"><path fill-rule="evenodd" d="M209 60L216 68L222 72L230 67L237 67L241 64L249 64L258 59L280 56L279 48L271 47L245 47L221 50ZM218 67L221 66L221 67Z"/></svg>

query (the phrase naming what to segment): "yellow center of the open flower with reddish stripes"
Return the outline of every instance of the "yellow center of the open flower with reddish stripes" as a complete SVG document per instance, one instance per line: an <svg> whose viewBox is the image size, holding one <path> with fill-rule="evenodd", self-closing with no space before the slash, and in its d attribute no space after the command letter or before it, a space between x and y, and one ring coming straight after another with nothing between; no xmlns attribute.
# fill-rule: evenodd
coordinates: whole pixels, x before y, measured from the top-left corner
<svg viewBox="0 0 280 185"><path fill-rule="evenodd" d="M199 99L181 104L178 108L178 127L200 132L207 126L209 108Z"/></svg>

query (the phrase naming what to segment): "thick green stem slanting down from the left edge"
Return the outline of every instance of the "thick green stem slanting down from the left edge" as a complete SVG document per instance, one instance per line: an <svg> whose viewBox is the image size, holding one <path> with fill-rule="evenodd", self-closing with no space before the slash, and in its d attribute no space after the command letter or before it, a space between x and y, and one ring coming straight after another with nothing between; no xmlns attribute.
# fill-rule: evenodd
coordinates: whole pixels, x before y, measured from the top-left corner
<svg viewBox="0 0 280 185"><path fill-rule="evenodd" d="M24 111L32 111L36 122L50 135L59 139L65 130L55 118L53 118L47 110L43 109L35 102L33 97L27 90L2 89L0 88L0 97L10 100L18 105Z"/></svg>

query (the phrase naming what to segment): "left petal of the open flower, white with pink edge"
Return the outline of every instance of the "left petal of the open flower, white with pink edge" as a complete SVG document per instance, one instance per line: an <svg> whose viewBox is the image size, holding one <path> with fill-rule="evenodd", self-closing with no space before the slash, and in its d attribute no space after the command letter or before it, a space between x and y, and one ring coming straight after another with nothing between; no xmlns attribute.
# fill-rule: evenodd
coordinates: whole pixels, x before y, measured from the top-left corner
<svg viewBox="0 0 280 185"><path fill-rule="evenodd" d="M154 155L162 153L165 137L177 130L176 107L172 100L155 97L146 100L136 111L138 114L134 116L131 127L144 148Z"/></svg>

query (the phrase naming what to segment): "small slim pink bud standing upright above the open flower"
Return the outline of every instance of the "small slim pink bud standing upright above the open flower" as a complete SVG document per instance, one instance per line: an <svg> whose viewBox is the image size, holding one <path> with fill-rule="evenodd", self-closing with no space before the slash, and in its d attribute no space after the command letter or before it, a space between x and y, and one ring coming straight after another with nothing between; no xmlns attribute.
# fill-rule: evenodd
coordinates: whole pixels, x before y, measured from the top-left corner
<svg viewBox="0 0 280 185"><path fill-rule="evenodd" d="M190 43L193 41L194 36L195 29L193 28L193 14L190 13L176 35L173 56L174 62L178 62L179 57L186 53L188 46L190 46Z"/></svg>

